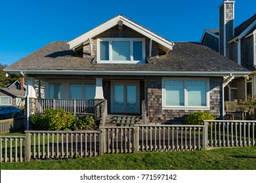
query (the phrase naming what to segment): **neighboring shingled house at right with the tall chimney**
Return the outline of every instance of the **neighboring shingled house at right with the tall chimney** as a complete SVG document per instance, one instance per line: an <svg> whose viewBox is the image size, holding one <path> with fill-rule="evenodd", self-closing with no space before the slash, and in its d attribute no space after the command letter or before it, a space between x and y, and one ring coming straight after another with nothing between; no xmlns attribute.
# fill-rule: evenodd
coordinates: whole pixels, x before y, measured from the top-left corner
<svg viewBox="0 0 256 183"><path fill-rule="evenodd" d="M225 101L244 100L256 95L256 14L234 27L234 3L224 1L219 7L219 29L205 29L201 43L251 71L236 77L225 88Z"/></svg>

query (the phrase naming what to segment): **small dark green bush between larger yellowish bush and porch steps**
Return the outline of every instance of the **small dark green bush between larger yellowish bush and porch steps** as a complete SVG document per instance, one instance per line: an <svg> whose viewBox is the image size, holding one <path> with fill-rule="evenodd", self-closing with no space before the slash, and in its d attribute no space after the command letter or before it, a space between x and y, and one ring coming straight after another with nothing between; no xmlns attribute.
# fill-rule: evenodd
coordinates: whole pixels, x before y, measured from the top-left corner
<svg viewBox="0 0 256 183"><path fill-rule="evenodd" d="M95 120L88 116L78 116L73 129L96 129Z"/></svg>

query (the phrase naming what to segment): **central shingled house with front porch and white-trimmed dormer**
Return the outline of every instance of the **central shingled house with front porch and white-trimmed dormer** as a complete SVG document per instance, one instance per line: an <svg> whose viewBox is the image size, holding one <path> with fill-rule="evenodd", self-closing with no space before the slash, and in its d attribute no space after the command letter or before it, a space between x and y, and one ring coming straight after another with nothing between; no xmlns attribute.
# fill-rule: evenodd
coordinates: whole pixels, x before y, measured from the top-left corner
<svg viewBox="0 0 256 183"><path fill-rule="evenodd" d="M72 41L51 42L5 71L26 75L28 116L48 105L77 112L107 100L108 114L146 110L151 123L181 122L198 110L223 116L224 85L249 73L207 46L171 42L123 15ZM33 79L45 83L45 99L35 99Z"/></svg>

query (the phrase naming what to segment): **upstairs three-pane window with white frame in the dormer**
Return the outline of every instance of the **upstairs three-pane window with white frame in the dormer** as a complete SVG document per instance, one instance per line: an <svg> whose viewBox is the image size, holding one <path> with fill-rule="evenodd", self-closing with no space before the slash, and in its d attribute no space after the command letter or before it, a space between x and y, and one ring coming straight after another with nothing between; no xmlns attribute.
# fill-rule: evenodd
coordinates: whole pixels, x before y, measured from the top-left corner
<svg viewBox="0 0 256 183"><path fill-rule="evenodd" d="M145 63L145 39L97 39L98 63Z"/></svg>

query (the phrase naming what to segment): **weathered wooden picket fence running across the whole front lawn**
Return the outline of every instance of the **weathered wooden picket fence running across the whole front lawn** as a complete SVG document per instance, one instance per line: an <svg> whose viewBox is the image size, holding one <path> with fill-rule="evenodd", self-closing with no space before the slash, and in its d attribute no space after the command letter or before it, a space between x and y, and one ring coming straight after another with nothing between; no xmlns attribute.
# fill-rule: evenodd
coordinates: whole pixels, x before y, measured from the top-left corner
<svg viewBox="0 0 256 183"><path fill-rule="evenodd" d="M95 131L25 131L0 136L0 162L65 159L106 153L202 150L255 146L256 121L206 120L204 125L135 125Z"/></svg>

